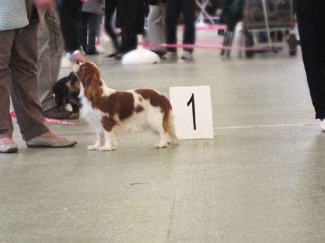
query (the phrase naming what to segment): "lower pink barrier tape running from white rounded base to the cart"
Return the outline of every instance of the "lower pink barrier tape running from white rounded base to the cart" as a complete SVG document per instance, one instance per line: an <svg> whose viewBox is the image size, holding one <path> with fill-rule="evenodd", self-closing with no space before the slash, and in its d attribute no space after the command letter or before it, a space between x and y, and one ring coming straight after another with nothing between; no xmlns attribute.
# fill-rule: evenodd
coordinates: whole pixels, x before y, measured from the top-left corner
<svg viewBox="0 0 325 243"><path fill-rule="evenodd" d="M154 46L162 46L162 47L175 47L175 48L188 48L188 49L216 49L216 50L253 50L253 51L283 51L289 50L289 48L254 48L254 47L239 47L239 46L201 46L201 45L187 45L187 44L149 44L144 42L138 42L140 46L146 46L148 49ZM293 49L292 49L293 50ZM296 49L294 49L296 50Z"/></svg>

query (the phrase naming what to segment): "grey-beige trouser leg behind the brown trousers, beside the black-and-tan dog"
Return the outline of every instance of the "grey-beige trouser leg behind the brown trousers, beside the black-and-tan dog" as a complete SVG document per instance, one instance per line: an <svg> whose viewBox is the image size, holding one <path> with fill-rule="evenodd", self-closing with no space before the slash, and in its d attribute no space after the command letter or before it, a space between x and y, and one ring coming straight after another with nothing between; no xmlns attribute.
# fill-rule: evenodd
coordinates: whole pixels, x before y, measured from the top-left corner
<svg viewBox="0 0 325 243"><path fill-rule="evenodd" d="M38 32L38 89L43 110L56 106L52 88L58 81L63 52L60 20L56 12L50 13Z"/></svg>

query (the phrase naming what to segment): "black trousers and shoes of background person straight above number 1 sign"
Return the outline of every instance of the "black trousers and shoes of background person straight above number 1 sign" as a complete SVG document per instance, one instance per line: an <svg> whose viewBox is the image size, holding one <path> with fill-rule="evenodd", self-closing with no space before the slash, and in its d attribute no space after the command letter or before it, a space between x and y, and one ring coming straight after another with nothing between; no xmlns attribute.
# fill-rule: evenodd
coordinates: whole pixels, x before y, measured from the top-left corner
<svg viewBox="0 0 325 243"><path fill-rule="evenodd" d="M195 44L195 0L167 0L166 6L166 42L177 44L177 20L180 11L184 18L183 44ZM192 52L192 48L184 48ZM176 52L175 47L167 47L167 51Z"/></svg>

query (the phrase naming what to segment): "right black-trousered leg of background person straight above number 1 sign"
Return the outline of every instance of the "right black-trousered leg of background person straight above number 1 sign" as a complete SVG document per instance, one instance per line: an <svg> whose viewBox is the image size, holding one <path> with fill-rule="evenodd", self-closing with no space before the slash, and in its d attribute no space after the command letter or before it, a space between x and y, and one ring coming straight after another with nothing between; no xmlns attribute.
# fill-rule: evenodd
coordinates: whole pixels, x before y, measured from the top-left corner
<svg viewBox="0 0 325 243"><path fill-rule="evenodd" d="M181 0L181 11L184 17L183 44L195 44L195 0ZM193 52L193 48L184 48L186 52ZM185 57L184 53L184 57ZM186 57L185 57L186 58ZM187 59L187 58L186 58Z"/></svg>

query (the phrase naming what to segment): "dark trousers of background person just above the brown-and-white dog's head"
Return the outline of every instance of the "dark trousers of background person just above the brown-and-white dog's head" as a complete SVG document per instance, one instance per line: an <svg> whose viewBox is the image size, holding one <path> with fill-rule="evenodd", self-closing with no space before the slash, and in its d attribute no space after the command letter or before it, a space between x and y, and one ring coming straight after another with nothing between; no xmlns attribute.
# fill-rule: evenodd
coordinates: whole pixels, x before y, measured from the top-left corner
<svg viewBox="0 0 325 243"><path fill-rule="evenodd" d="M93 13L80 13L81 46L84 52L96 51L95 40L98 25L98 15Z"/></svg>

